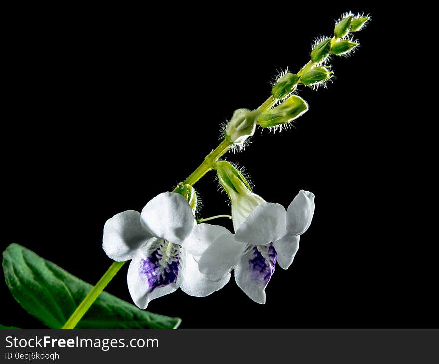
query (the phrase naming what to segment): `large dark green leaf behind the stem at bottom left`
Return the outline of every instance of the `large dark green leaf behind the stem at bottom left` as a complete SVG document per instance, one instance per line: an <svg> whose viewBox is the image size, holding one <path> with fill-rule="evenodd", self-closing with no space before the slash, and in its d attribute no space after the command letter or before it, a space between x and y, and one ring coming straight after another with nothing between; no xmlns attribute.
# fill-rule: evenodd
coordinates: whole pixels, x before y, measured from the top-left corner
<svg viewBox="0 0 439 364"><path fill-rule="evenodd" d="M18 244L3 252L3 271L15 300L51 329L61 328L92 288ZM175 329L180 322L102 292L76 329Z"/></svg>

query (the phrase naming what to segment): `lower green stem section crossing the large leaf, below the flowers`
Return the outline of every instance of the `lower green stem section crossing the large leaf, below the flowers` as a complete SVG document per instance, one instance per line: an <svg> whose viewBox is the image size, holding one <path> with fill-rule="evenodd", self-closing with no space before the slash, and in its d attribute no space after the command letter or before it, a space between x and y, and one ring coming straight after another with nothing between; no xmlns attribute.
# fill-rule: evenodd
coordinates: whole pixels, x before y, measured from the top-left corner
<svg viewBox="0 0 439 364"><path fill-rule="evenodd" d="M125 264L125 262L113 262L113 264L111 264L110 268L108 268L108 270L105 272L105 274L99 280L99 282L96 283L96 286L94 286L91 289L91 291L83 299L83 301L79 304L79 306L76 308L75 312L73 312L72 316L70 316L70 318L67 320L67 322L65 323L65 325L61 329L74 329L75 328L75 326L78 324L79 320L82 319L82 317L88 311L88 309L93 304L93 302L96 301L96 299L101 294L101 292L104 290L104 288L107 286L107 284L113 279L113 277L116 275L116 273L119 271L119 269L122 268L122 266L124 264Z"/></svg>

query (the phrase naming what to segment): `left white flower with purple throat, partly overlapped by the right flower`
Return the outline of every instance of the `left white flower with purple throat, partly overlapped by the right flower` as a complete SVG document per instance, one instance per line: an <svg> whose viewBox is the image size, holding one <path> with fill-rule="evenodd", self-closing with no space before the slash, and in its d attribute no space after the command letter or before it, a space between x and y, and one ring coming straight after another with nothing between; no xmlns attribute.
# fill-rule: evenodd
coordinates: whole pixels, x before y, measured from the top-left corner
<svg viewBox="0 0 439 364"><path fill-rule="evenodd" d="M226 232L222 226L197 225L186 199L165 192L150 200L142 213L130 210L109 219L103 249L113 260L132 259L128 288L135 304L145 309L149 301L179 287L191 296L204 297L227 284L229 274L212 282L199 272L197 263Z"/></svg>

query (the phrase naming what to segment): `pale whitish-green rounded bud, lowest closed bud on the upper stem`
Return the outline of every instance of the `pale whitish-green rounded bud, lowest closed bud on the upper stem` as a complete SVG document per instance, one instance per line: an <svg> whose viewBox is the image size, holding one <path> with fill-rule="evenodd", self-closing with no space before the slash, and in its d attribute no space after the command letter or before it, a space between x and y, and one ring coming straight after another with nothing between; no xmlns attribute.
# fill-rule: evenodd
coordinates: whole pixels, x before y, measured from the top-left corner
<svg viewBox="0 0 439 364"><path fill-rule="evenodd" d="M256 118L260 114L258 110L238 109L225 127L225 138L234 144L245 142L254 134Z"/></svg>

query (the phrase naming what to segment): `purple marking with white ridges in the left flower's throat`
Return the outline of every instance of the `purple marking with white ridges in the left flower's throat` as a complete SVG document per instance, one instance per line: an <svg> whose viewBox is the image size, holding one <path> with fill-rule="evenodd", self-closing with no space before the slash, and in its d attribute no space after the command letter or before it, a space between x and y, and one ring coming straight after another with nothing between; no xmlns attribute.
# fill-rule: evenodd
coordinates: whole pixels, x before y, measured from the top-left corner
<svg viewBox="0 0 439 364"><path fill-rule="evenodd" d="M141 260L140 272L145 274L148 279L148 286L150 292L154 291L157 287L163 287L171 283L175 283L178 277L179 270L179 251L174 249L174 255L171 257L166 256L166 245L171 244L164 242L159 248L154 250L146 259ZM165 246L165 252L162 252ZM163 265L161 260L165 255L166 262Z"/></svg>

